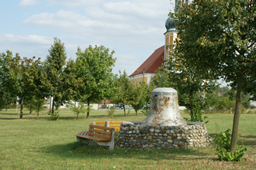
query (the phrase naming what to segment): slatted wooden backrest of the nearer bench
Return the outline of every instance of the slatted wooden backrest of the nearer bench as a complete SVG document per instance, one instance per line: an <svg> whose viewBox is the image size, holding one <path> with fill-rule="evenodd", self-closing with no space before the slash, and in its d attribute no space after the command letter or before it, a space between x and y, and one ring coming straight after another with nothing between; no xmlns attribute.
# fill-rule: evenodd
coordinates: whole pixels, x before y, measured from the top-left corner
<svg viewBox="0 0 256 170"><path fill-rule="evenodd" d="M107 128L107 127L90 124L88 135L94 136L97 138L106 138L107 141L111 141L112 131L113 131L113 128Z"/></svg>

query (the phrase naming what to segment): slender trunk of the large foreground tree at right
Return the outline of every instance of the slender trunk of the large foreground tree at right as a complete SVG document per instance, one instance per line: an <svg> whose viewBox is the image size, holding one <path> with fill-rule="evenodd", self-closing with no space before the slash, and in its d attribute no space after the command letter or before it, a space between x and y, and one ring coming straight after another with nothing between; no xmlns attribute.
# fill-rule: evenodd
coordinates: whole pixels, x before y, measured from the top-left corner
<svg viewBox="0 0 256 170"><path fill-rule="evenodd" d="M237 146L237 134L238 134L238 125L239 125L239 117L240 117L242 85L243 85L243 74L238 73L237 74L236 109L234 113L233 129L232 129L231 144L230 144L230 151L233 153L234 151L236 151L236 146Z"/></svg>

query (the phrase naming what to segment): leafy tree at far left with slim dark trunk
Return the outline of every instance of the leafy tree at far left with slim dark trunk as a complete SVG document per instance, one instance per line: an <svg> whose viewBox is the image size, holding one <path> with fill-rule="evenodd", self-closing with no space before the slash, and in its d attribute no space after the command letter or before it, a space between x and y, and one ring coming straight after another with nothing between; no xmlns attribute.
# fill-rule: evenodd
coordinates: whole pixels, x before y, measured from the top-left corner
<svg viewBox="0 0 256 170"><path fill-rule="evenodd" d="M6 58L5 58L6 56ZM12 52L7 51L7 55L2 54L4 57L3 70L5 70L4 75L2 76L2 86L8 87L9 91L12 93L12 96L16 94L20 97L20 118L23 116L23 104L24 98L33 93L36 89L35 81L37 77L37 69L40 65L40 58L28 59L24 57L23 59L19 56L19 53L16 53L16 56L12 56Z"/></svg>

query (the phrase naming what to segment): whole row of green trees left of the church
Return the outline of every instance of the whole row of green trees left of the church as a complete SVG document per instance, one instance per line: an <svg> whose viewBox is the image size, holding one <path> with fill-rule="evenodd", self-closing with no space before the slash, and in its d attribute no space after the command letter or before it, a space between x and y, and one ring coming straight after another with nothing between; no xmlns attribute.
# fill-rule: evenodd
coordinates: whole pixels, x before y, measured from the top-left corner
<svg viewBox="0 0 256 170"><path fill-rule="evenodd" d="M51 114L69 100L74 102L100 102L111 95L113 86L112 66L116 58L114 51L104 46L89 46L85 51L78 47L77 59L68 59L64 43L54 38L45 61L40 58L21 58L7 50L0 54L0 99L7 106L16 103L19 97L20 118L23 106L45 104L44 98L51 100ZM3 106L0 106L1 108ZM87 117L89 116L89 110Z"/></svg>

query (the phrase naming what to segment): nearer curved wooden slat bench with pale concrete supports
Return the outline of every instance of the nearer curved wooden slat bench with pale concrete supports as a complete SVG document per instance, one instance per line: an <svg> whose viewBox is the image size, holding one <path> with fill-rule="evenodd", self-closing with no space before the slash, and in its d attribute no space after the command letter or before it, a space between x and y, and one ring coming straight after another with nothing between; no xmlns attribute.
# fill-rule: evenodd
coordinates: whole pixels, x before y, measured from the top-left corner
<svg viewBox="0 0 256 170"><path fill-rule="evenodd" d="M79 141L88 141L88 146L93 146L93 141L97 141L98 145L108 146L109 150L113 150L115 128L95 125L95 122L92 122L89 131L80 131L76 137Z"/></svg>

